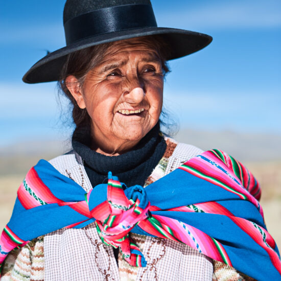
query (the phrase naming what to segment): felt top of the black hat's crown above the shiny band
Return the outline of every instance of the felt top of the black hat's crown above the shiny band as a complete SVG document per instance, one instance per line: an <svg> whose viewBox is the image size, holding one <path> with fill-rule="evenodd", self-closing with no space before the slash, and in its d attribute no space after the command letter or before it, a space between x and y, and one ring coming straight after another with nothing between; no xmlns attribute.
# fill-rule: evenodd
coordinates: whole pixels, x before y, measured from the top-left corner
<svg viewBox="0 0 281 281"><path fill-rule="evenodd" d="M151 5L150 0L67 0L63 10L63 24L69 19L98 9L121 5Z"/></svg>

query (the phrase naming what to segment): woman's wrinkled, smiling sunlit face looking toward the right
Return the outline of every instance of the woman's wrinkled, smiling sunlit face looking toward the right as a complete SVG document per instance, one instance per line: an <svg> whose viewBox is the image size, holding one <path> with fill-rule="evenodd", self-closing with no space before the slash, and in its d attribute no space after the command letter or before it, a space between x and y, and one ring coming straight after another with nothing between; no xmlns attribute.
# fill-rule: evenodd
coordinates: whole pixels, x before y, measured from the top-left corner
<svg viewBox="0 0 281 281"><path fill-rule="evenodd" d="M68 76L66 85L71 79L75 78ZM93 149L118 155L135 146L159 120L161 60L149 41L117 41L86 75L82 87L68 88L91 118Z"/></svg>

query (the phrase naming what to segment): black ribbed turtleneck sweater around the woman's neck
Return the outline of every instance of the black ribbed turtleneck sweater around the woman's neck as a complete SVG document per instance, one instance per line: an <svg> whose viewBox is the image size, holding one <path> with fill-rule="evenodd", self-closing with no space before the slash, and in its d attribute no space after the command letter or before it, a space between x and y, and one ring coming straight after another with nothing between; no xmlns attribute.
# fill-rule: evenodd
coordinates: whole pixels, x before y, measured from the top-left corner
<svg viewBox="0 0 281 281"><path fill-rule="evenodd" d="M140 140L132 151L119 156L105 156L90 149L91 134L88 128L76 128L73 149L84 160L84 167L93 188L107 182L107 173L112 172L127 186L144 185L166 150L166 142L159 135L159 123ZM119 249L113 248L118 265Z"/></svg>

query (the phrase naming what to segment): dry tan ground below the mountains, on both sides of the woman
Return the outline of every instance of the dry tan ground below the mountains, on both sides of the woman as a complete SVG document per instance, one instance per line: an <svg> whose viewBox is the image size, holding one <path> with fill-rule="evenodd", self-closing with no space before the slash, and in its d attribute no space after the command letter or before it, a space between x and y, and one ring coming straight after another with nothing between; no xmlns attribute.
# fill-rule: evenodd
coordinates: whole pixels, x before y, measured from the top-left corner
<svg viewBox="0 0 281 281"><path fill-rule="evenodd" d="M281 162L248 163L262 185L261 204L267 228L281 249ZM0 228L3 229L12 213L16 190L24 174L0 176Z"/></svg>

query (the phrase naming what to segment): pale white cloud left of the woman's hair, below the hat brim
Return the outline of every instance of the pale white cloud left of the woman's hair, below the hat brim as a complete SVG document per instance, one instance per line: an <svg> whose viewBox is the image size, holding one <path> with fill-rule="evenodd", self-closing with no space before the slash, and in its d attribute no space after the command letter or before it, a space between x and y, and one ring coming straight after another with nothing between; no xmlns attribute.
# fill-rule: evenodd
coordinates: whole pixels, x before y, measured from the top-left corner
<svg viewBox="0 0 281 281"><path fill-rule="evenodd" d="M25 138L68 137L71 129L61 123L55 83L0 83L0 96L0 147Z"/></svg>

